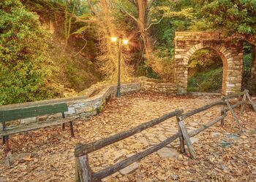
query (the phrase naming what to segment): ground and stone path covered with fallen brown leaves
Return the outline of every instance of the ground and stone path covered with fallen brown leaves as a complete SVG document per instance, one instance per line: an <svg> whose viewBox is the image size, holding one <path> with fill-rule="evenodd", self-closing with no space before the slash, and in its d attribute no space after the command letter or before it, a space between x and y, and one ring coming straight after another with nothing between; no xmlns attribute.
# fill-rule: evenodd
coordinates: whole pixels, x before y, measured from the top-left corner
<svg viewBox="0 0 256 182"><path fill-rule="evenodd" d="M11 136L12 152L0 146L0 181L74 181L75 143L87 143L162 116L176 108L190 111L213 101L217 96L165 96L134 93L112 98L104 111L90 119L75 122L75 138L69 128L49 127ZM238 110L237 110L238 112ZM216 118L217 106L185 120L193 130ZM149 155L105 181L254 181L256 178L256 114L246 107L241 116L244 133L228 114L225 127L215 124L192 138L197 159L178 151L178 141ZM89 155L94 171L165 140L177 131L176 119L167 121ZM130 172L129 174L127 174ZM127 175L124 175L127 174Z"/></svg>

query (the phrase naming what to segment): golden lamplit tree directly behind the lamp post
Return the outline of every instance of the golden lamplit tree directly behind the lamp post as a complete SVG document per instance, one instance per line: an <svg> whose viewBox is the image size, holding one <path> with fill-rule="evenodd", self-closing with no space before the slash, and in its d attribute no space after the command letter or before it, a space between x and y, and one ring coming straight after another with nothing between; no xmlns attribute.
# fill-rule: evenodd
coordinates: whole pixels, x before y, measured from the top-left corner
<svg viewBox="0 0 256 182"><path fill-rule="evenodd" d="M111 36L126 36L122 30L122 26L116 23L115 4L113 1L87 0L88 6L91 9L90 16L81 15L78 20L85 23L84 27L94 25L96 28L99 52L97 56L98 68L105 75L105 80L108 82L116 82L118 70L118 47L110 41ZM83 29L82 28L82 29ZM118 30L118 31L117 31ZM124 48L124 47L123 47ZM129 48L122 49L122 52L128 53L121 57L121 80L129 80L132 74L132 67L129 66Z"/></svg>

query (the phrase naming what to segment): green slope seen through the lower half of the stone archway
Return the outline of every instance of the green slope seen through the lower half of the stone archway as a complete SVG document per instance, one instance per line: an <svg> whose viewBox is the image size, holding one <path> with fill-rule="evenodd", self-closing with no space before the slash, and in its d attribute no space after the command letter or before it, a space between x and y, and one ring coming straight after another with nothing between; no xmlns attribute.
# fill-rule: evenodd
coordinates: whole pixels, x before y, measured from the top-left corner
<svg viewBox="0 0 256 182"><path fill-rule="evenodd" d="M194 74L188 79L189 92L220 92L222 90L222 68L211 68Z"/></svg>

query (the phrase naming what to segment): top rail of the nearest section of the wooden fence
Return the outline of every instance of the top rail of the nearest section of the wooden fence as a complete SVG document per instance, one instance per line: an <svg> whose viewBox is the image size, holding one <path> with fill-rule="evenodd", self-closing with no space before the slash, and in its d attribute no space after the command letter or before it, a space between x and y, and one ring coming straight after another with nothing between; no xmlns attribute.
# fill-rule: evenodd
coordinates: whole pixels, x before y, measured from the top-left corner
<svg viewBox="0 0 256 182"><path fill-rule="evenodd" d="M170 112L168 114L165 114L163 116L160 116L157 119L153 119L150 122L146 122L143 124L138 125L138 127L133 127L130 130L120 132L116 135L112 135L108 138L103 138L102 140L99 141L94 141L91 143L86 143L81 146L78 146L75 148L75 157L80 157L85 154L88 154L92 151L97 151L98 149L101 149L104 146L108 146L111 143L115 143L117 141L124 140L125 138L128 138L129 136L134 135L135 133L141 132L143 130L146 130L148 127L152 127L156 124L159 124L161 122L164 122L166 119L169 119L173 116L176 116L177 114L181 114L182 112L180 110Z"/></svg>

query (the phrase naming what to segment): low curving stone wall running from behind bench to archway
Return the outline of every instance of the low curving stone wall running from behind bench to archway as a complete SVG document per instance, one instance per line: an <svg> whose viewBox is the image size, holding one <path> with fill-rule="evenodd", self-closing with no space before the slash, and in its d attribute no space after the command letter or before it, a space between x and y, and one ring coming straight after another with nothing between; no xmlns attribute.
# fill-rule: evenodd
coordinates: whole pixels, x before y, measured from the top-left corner
<svg viewBox="0 0 256 182"><path fill-rule="evenodd" d="M130 92L157 92L165 94L176 94L176 85L174 83L165 83L155 79L138 78L135 82L129 84L121 84L121 93L127 94ZM67 103L68 111L65 116L73 119L84 119L89 116L94 116L102 111L105 102L111 95L116 95L117 86L108 85L101 86L89 90L86 95L73 98L58 98L51 100L41 100L30 103L17 103L7 106L0 106L1 109L8 108L26 108L31 106L43 106L53 103ZM43 122L52 119L61 119L61 113L49 114L45 116L37 116L26 119L20 119L13 122L8 122L7 127L17 127L19 124L29 124L31 122ZM1 126L0 126L1 127Z"/></svg>

